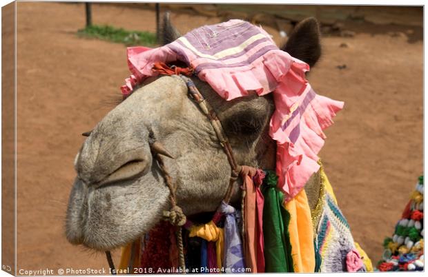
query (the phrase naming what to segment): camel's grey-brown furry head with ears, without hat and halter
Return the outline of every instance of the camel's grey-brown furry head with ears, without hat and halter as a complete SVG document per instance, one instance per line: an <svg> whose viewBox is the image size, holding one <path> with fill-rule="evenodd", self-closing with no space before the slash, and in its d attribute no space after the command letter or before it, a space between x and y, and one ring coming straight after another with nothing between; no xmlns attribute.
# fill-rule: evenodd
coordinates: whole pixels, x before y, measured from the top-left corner
<svg viewBox="0 0 428 277"><path fill-rule="evenodd" d="M179 36L167 17L164 34L164 43ZM312 66L320 57L319 36L317 21L304 20L282 50ZM268 134L272 97L254 94L225 101L207 83L193 81L217 113L237 163L274 169L275 142ZM231 165L187 90L178 76L148 79L90 132L75 158L77 177L66 215L70 243L113 249L161 220L170 192L153 158L162 152L159 147L173 157L163 160L184 214L215 211L226 193ZM238 187L233 201L239 200Z"/></svg>

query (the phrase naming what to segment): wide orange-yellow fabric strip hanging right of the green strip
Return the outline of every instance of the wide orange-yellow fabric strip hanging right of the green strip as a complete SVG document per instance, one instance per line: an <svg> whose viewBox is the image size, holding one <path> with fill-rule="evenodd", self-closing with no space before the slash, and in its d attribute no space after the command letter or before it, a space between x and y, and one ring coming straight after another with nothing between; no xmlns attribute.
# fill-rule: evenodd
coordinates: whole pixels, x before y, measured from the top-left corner
<svg viewBox="0 0 428 277"><path fill-rule="evenodd" d="M315 269L313 227L311 209L304 189L285 203L284 207L290 213L289 234L294 271L313 272Z"/></svg>

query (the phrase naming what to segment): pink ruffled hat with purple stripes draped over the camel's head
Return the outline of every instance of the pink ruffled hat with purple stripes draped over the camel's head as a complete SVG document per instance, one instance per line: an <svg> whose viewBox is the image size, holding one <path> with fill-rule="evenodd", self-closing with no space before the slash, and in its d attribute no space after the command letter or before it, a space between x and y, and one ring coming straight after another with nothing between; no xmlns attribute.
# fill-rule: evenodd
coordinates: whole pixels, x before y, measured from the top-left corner
<svg viewBox="0 0 428 277"><path fill-rule="evenodd" d="M261 39L239 56L235 54L223 59L203 57L210 51L210 43L217 45L217 34L236 39L238 34L245 33ZM155 49L128 48L128 67L132 74L126 79L126 85L121 87L124 96L128 96L146 77L157 75L152 70L155 62L176 60L188 63L202 81L226 100L247 96L251 92L260 96L272 92L275 112L269 134L278 146L278 186L286 201L293 198L319 170L318 153L326 139L322 130L333 124L333 117L342 110L344 103L316 94L305 78L309 65L278 49L269 34L248 22L235 19L203 26L184 38L191 42L196 38L198 43L192 46L204 54L197 54L194 49L186 47L181 38ZM222 43L235 46L233 39ZM260 52L263 54L257 56ZM239 66L233 66L235 64Z"/></svg>

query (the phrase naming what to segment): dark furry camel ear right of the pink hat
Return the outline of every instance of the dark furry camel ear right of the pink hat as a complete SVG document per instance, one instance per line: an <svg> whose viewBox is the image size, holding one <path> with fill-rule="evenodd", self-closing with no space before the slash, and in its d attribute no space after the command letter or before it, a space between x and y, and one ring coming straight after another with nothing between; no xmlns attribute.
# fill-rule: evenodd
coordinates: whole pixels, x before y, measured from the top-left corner
<svg viewBox="0 0 428 277"><path fill-rule="evenodd" d="M300 21L281 50L313 67L321 57L318 21L313 17Z"/></svg>

